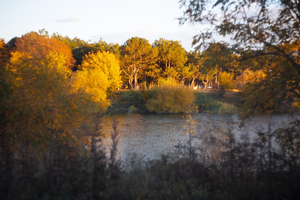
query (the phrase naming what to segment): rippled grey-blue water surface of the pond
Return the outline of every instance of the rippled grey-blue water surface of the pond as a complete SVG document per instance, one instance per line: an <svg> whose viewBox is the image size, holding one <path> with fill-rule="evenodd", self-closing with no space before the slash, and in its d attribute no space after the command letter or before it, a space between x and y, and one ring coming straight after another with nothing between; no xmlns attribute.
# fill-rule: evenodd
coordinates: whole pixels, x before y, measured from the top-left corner
<svg viewBox="0 0 300 200"><path fill-rule="evenodd" d="M145 160L158 158L161 154L170 154L176 151L179 142L184 143L186 116L184 114L116 114L119 121L118 158L126 161L137 156ZM109 147L112 119L115 115L107 116L102 121L104 135L103 145ZM248 138L256 138L257 132L273 131L284 127L295 117L289 115L256 116L248 119L243 127L237 115L220 116L206 113L193 114L196 124L196 138L203 134L220 130L234 133L237 138L247 134ZM195 140L196 141L196 140Z"/></svg>

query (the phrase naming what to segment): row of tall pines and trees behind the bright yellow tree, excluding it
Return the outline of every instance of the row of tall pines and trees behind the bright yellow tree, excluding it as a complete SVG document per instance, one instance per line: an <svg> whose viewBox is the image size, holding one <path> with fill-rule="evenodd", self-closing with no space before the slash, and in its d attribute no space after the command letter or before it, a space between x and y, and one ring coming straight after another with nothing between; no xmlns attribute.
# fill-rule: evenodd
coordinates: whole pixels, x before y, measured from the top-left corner
<svg viewBox="0 0 300 200"><path fill-rule="evenodd" d="M272 68L268 60L259 63L255 60L242 61L241 55L237 55L232 49L229 49L226 43L211 43L202 52L186 52L180 41L164 38L150 44L145 38L132 37L124 44L119 45L118 43L108 44L103 40L91 43L77 37L72 39L57 33L49 36L45 30L41 30L39 33L27 33L20 38L12 38L5 45L7 51L15 51L16 41L23 40L24 37L31 34L39 34L42 37L64 43L66 46L57 46L56 48L64 48L64 50L68 48L71 51L71 54L70 52L63 53L72 60L72 62L69 60L67 64L73 72L83 70L86 67L86 61L95 60L98 54L110 52L115 55L116 60L119 61L122 81L120 82L117 77L114 77L118 84L114 85L113 89L153 88L164 82L165 79L188 85L190 88L242 89L247 82L264 79ZM27 39L27 42L37 41ZM91 58L93 56L94 58ZM110 81L114 79L110 79Z"/></svg>

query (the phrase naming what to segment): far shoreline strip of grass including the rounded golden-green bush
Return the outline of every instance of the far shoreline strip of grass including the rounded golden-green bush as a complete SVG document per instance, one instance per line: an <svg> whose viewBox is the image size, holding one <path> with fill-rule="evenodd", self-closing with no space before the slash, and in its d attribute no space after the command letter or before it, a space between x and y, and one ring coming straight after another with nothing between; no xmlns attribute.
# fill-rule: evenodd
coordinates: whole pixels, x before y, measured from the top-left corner
<svg viewBox="0 0 300 200"><path fill-rule="evenodd" d="M240 103L239 96L232 97ZM154 90L115 91L110 94L112 105L108 112L128 112L135 106L139 112L185 113L205 112L218 115L232 115L239 112L238 106L226 103L215 94L189 90L182 86L161 86ZM196 109L197 107L197 109Z"/></svg>

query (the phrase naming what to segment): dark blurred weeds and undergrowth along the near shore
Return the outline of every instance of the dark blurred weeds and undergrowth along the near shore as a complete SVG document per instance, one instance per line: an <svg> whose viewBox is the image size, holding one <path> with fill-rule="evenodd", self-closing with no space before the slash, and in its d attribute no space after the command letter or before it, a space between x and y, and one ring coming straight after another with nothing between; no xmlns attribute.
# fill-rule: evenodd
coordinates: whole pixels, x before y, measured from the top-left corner
<svg viewBox="0 0 300 200"><path fill-rule="evenodd" d="M48 154L22 156L2 145L0 199L299 199L299 122L252 142L236 142L230 130L205 134L200 146L178 148L180 158L162 155L126 171L113 124L110 157L94 145L58 142Z"/></svg>

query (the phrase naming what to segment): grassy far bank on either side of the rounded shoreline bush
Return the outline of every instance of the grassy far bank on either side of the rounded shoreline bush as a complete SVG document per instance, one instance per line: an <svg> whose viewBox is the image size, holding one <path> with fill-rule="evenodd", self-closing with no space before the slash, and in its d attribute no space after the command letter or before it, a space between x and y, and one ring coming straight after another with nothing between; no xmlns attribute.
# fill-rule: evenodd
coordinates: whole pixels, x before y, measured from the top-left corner
<svg viewBox="0 0 300 200"><path fill-rule="evenodd" d="M194 106L197 112L214 113L220 115L230 115L240 112L243 106L241 92L237 90L228 91L222 98L217 96L217 91L213 89L199 89L194 91ZM145 98L142 90L117 90L113 91L108 99L111 106L107 112L128 112L131 106L137 108L137 112L148 112L144 104Z"/></svg>

